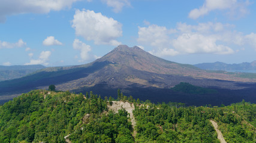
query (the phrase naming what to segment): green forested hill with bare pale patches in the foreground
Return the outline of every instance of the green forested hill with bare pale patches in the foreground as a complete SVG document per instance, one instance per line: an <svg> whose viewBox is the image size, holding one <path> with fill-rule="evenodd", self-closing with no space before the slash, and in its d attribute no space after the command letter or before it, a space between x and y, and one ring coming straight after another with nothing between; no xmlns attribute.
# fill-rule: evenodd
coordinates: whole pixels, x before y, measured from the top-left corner
<svg viewBox="0 0 256 143"><path fill-rule="evenodd" d="M210 120L227 142L256 141L256 105L249 102L185 107L141 102L120 91L113 100L92 92L22 94L0 106L0 142L219 142ZM132 115L125 107L110 110L121 102L134 107Z"/></svg>

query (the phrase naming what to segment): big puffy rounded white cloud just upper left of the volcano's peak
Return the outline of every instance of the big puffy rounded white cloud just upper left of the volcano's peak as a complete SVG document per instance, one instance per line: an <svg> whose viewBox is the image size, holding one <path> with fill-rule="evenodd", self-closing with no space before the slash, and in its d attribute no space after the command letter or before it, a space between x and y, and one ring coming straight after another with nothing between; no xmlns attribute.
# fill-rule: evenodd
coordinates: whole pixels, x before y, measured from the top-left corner
<svg viewBox="0 0 256 143"><path fill-rule="evenodd" d="M122 36L122 24L113 18L90 10L77 10L72 27L76 35L82 36L95 44L121 45L116 38Z"/></svg>

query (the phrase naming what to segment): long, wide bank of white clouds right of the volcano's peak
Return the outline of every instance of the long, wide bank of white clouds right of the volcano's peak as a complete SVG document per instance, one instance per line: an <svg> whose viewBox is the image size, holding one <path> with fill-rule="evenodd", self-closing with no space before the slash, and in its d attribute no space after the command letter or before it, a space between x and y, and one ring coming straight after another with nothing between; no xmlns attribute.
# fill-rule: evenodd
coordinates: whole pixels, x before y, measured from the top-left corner
<svg viewBox="0 0 256 143"><path fill-rule="evenodd" d="M256 35L243 35L232 31L231 24L222 23L198 23L189 25L177 23L176 29L167 29L163 26L150 25L138 27L138 43L152 46L151 54L174 56L177 54L233 54L234 49L230 45L244 45L256 41ZM255 48L256 49L256 48Z"/></svg>

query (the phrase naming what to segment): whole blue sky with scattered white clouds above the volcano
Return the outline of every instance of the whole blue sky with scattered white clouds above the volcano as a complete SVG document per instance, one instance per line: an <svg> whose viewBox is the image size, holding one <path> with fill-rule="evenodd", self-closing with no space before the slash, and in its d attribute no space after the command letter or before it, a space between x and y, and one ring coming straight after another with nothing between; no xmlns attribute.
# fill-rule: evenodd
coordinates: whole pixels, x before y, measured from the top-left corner
<svg viewBox="0 0 256 143"><path fill-rule="evenodd" d="M86 64L120 44L177 63L256 60L249 0L0 0L0 65Z"/></svg>

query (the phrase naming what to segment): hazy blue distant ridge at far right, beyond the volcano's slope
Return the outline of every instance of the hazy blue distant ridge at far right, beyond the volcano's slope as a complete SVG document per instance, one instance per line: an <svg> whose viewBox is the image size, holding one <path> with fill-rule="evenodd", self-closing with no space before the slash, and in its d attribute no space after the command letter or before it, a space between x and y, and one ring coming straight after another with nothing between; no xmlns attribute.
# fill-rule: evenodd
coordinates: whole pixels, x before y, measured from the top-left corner
<svg viewBox="0 0 256 143"><path fill-rule="evenodd" d="M256 61L251 63L226 64L222 62L194 64L195 67L204 70L224 70L224 71L243 71L256 70Z"/></svg>

